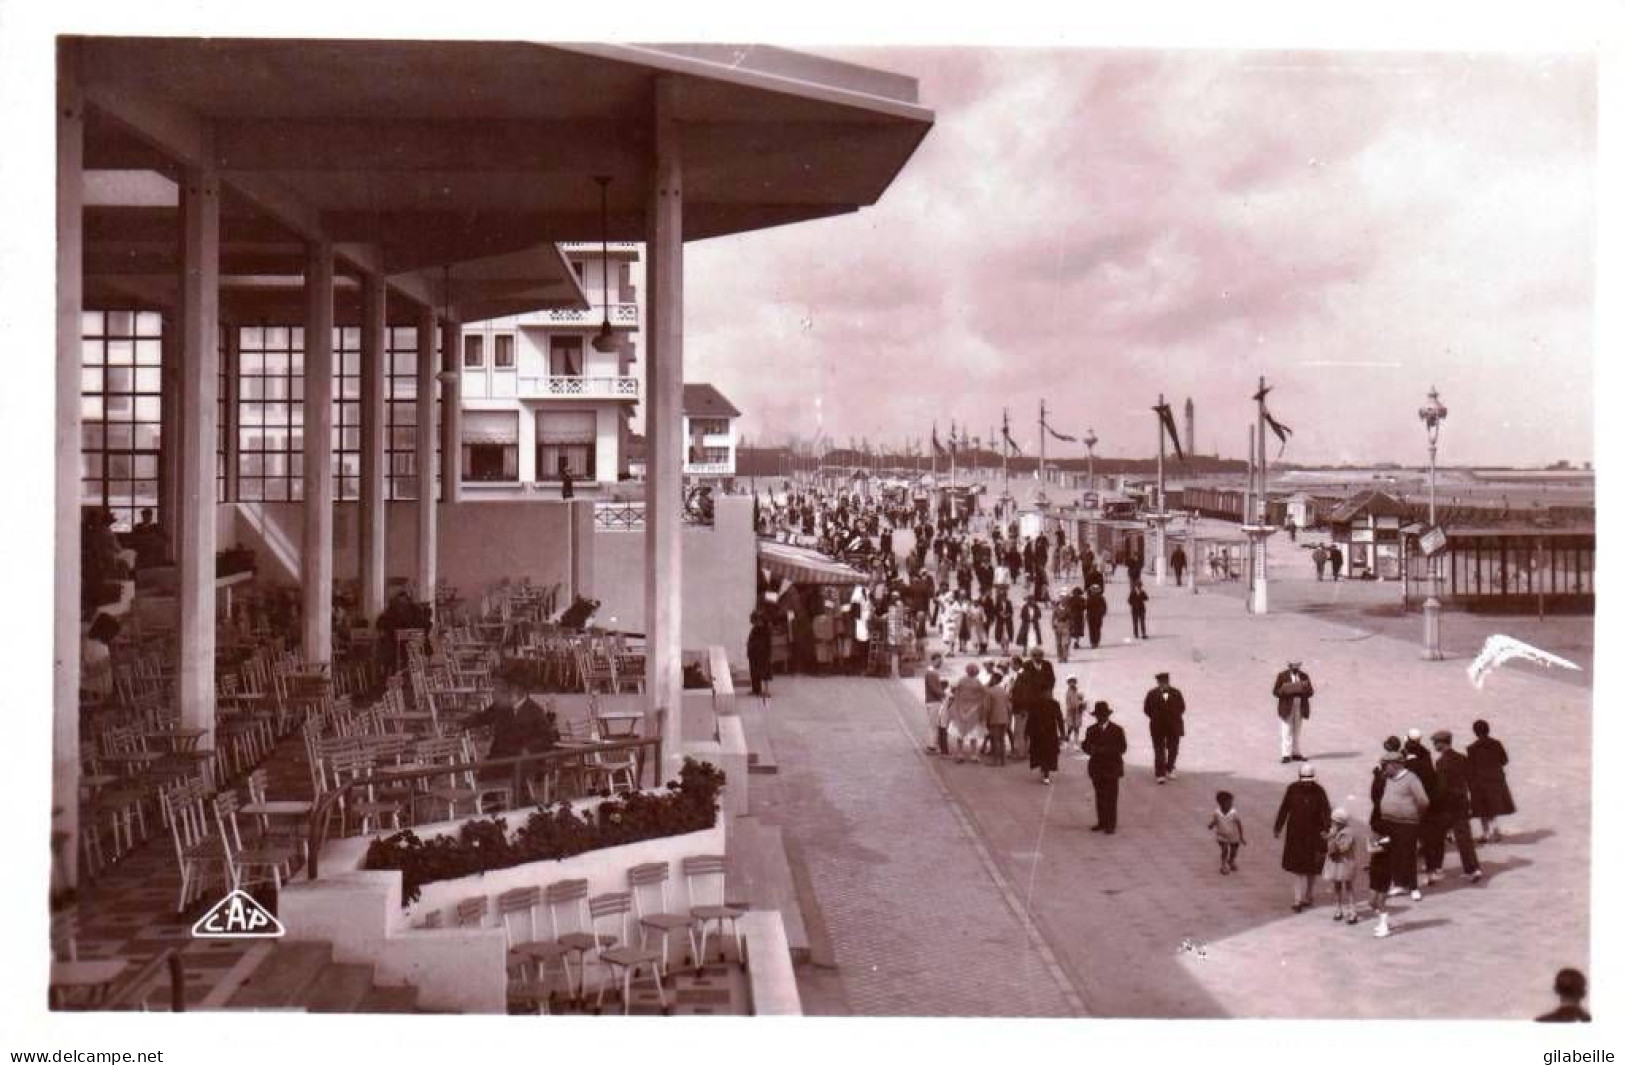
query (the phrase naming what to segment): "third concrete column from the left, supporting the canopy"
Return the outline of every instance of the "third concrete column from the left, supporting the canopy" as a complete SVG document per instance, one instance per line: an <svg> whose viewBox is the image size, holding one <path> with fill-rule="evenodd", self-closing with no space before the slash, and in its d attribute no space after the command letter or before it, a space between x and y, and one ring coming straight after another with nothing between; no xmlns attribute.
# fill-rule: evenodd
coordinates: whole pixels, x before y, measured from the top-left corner
<svg viewBox="0 0 1625 1065"><path fill-rule="evenodd" d="M304 657L333 657L333 246L306 255L304 540L299 551Z"/></svg>

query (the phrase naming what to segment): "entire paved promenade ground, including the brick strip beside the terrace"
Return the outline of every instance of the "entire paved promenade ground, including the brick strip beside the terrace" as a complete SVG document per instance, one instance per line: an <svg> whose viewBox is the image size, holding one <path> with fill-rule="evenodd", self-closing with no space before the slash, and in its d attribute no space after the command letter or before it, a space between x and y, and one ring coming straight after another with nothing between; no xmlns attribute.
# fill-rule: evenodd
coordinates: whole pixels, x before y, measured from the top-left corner
<svg viewBox="0 0 1625 1065"><path fill-rule="evenodd" d="M1549 1008L1555 969L1588 967L1589 689L1513 670L1476 689L1466 662L1422 662L1410 642L1149 590L1150 641L1124 641L1120 580L1107 646L1058 665L1129 733L1115 837L1087 831L1092 793L1071 753L1050 789L1024 766L923 764L918 680L775 683L778 819L803 844L853 1013L1030 1011L1037 998L1006 993L1020 984L1004 971L1038 985L1029 959L1045 950L1095 1016L1528 1018ZM1324 891L1290 912L1269 829L1295 767L1277 761L1269 686L1298 655L1320 693L1305 750L1332 803L1358 819L1388 733L1448 727L1464 746L1485 717L1513 759L1519 815L1508 842L1482 855L1485 883L1454 878L1422 902L1398 901L1389 940L1373 940L1370 924L1334 925ZM1180 779L1159 787L1138 707L1164 668L1191 709ZM900 696L908 709L897 714ZM978 868L941 787L998 876ZM1248 831L1237 876L1219 876L1204 831L1220 787ZM1042 940L1006 927L1011 912L1030 914ZM972 990L944 972L975 974Z"/></svg>

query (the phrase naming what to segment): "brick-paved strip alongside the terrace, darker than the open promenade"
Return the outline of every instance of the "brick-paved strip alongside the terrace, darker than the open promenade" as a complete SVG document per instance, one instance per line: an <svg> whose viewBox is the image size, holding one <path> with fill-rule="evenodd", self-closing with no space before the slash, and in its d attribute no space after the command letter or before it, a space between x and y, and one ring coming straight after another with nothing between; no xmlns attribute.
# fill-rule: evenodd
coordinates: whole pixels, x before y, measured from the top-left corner
<svg viewBox="0 0 1625 1065"><path fill-rule="evenodd" d="M1082 1003L1004 875L902 724L889 681L780 678L777 777L751 806L806 860L838 987L814 974L809 1013L1076 1016Z"/></svg>

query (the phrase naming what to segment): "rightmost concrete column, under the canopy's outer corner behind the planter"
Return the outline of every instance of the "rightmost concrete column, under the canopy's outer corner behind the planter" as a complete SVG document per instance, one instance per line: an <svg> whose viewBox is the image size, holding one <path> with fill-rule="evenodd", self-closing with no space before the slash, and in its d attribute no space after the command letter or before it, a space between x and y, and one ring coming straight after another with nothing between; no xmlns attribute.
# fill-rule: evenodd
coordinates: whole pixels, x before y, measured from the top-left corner
<svg viewBox="0 0 1625 1065"><path fill-rule="evenodd" d="M678 85L655 85L648 203L648 501L644 524L645 689L665 712L665 776L682 764L682 156ZM653 725L655 722L650 722ZM653 735L653 728L645 730Z"/></svg>

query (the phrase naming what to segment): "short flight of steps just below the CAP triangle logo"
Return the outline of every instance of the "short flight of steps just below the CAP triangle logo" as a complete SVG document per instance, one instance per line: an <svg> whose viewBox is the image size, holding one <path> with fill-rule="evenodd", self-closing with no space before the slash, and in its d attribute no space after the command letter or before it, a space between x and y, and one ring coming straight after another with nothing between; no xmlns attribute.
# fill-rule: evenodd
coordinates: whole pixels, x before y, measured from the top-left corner
<svg viewBox="0 0 1625 1065"><path fill-rule="evenodd" d="M333 961L332 943L278 943L226 1002L228 1010L421 1013L416 987L379 987L372 966Z"/></svg>

